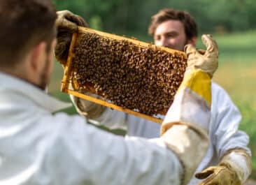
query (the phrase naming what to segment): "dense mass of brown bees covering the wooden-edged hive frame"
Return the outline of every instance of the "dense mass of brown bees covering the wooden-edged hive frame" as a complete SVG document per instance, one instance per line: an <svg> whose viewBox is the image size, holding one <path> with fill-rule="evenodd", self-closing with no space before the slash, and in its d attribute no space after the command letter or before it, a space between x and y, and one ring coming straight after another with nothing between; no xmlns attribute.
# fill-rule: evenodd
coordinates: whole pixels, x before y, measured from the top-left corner
<svg viewBox="0 0 256 185"><path fill-rule="evenodd" d="M166 114L186 65L180 52L79 33L73 47L71 79L80 91L152 116Z"/></svg>

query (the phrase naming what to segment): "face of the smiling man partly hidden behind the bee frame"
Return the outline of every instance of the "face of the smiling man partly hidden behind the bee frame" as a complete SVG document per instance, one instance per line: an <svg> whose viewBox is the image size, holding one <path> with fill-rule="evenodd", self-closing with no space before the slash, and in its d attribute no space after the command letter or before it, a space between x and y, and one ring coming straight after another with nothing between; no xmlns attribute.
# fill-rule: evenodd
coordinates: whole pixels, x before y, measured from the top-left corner
<svg viewBox="0 0 256 185"><path fill-rule="evenodd" d="M179 20L167 20L158 25L154 35L155 45L184 50L187 44L183 23Z"/></svg>

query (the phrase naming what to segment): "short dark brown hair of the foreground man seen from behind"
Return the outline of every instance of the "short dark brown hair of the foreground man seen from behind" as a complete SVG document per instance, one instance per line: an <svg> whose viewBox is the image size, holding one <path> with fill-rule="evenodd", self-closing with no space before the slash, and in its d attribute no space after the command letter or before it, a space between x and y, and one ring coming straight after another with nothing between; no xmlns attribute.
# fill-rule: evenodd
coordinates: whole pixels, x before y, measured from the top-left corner
<svg viewBox="0 0 256 185"><path fill-rule="evenodd" d="M42 41L49 51L56 17L51 0L1 0L0 66L15 66Z"/></svg>

